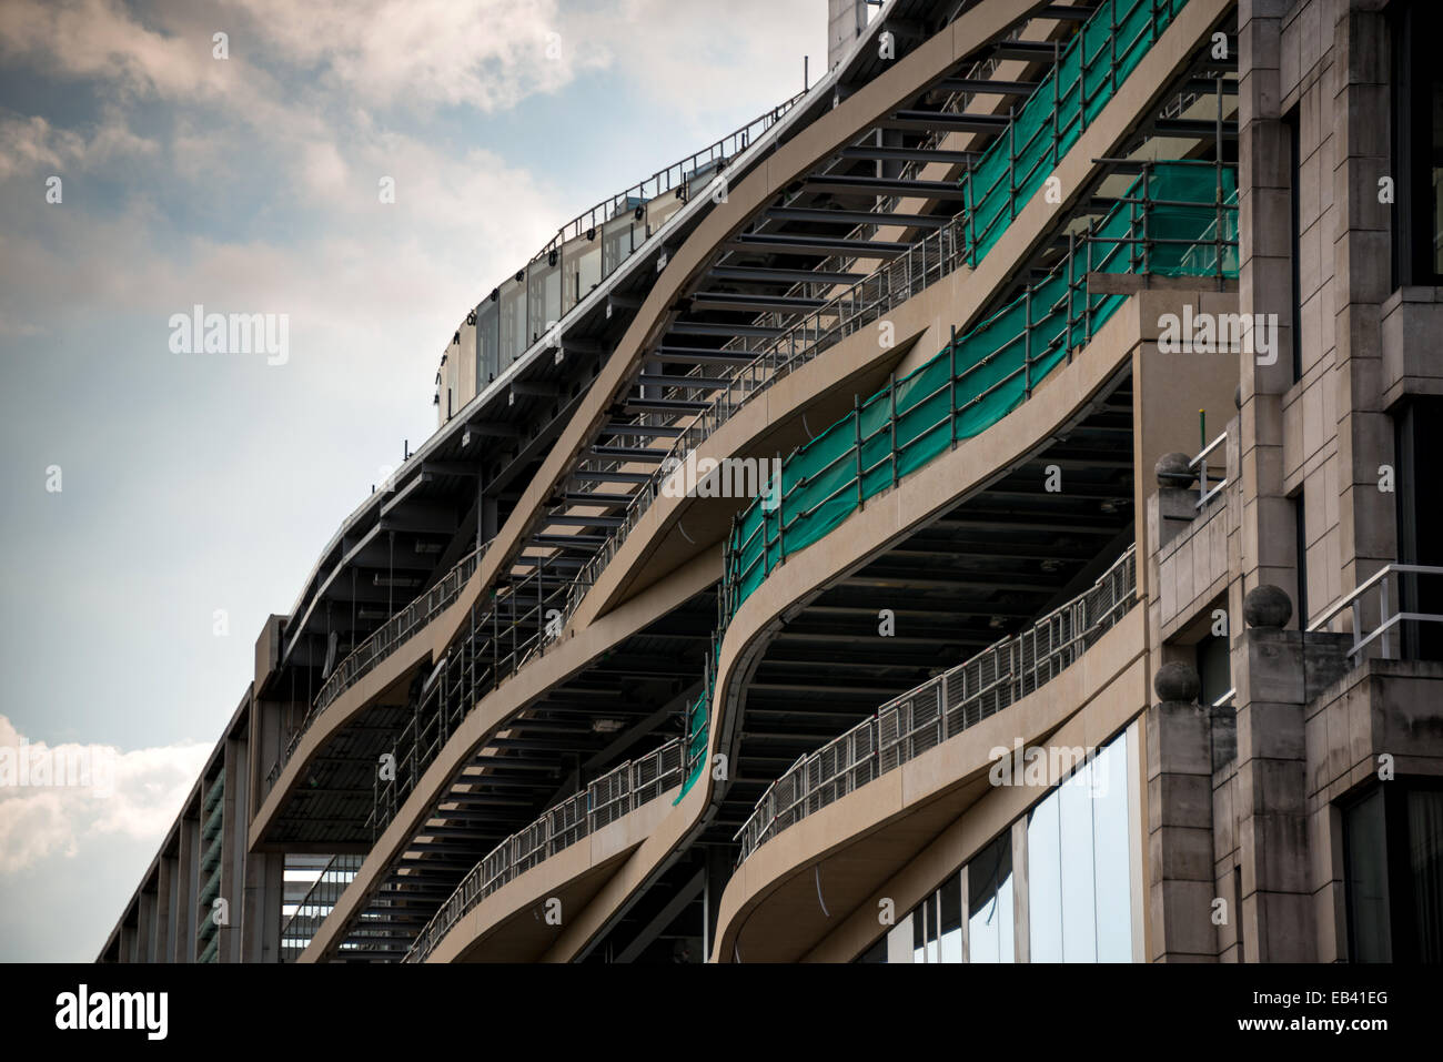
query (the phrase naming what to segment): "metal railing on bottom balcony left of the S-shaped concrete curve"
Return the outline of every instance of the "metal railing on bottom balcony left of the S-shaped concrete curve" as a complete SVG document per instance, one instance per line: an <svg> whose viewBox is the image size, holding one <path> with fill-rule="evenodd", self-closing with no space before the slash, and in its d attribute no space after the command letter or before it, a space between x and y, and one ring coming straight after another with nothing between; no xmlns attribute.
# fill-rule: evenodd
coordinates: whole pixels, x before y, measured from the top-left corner
<svg viewBox="0 0 1443 1062"><path fill-rule="evenodd" d="M602 775L582 792L512 834L472 869L411 944L407 962L424 962L472 908L544 860L681 784L683 742L672 737Z"/></svg>

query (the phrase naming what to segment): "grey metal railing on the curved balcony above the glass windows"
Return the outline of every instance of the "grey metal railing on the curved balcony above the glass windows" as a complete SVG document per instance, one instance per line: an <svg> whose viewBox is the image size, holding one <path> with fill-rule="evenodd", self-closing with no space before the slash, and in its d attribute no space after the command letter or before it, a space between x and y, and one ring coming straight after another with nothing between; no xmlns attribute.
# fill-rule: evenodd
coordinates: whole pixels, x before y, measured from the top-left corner
<svg viewBox="0 0 1443 1062"><path fill-rule="evenodd" d="M1114 628L1136 596L1137 557L1130 545L1088 590L1022 633L889 701L798 759L737 830L737 863L807 815L1046 685Z"/></svg>

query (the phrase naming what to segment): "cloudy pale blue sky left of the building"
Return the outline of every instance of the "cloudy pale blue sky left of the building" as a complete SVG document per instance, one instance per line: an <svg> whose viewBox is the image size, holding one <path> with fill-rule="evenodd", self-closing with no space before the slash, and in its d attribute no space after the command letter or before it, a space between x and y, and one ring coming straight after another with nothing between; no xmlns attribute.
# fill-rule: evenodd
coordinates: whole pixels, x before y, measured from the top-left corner
<svg viewBox="0 0 1443 1062"><path fill-rule="evenodd" d="M799 91L825 10L0 1L0 960L95 957L468 309Z"/></svg>

